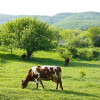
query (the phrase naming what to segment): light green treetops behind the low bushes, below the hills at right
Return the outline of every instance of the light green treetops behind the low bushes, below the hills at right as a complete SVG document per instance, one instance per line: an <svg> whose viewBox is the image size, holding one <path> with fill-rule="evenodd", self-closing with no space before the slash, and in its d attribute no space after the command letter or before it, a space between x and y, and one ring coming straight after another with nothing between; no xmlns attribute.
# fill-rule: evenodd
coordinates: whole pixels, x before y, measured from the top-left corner
<svg viewBox="0 0 100 100"><path fill-rule="evenodd" d="M75 47L100 47L100 27L89 27L88 30L62 30L59 33L66 45Z"/></svg>

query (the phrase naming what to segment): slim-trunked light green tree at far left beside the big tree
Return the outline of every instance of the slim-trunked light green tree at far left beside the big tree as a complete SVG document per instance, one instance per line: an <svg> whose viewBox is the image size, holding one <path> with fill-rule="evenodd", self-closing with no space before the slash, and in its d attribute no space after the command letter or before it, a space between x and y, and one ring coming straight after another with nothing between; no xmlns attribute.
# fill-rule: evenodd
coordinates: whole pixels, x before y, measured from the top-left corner
<svg viewBox="0 0 100 100"><path fill-rule="evenodd" d="M15 46L15 34L12 21L10 21L9 23L5 23L1 26L0 36L2 45L11 49L12 54L12 48Z"/></svg>

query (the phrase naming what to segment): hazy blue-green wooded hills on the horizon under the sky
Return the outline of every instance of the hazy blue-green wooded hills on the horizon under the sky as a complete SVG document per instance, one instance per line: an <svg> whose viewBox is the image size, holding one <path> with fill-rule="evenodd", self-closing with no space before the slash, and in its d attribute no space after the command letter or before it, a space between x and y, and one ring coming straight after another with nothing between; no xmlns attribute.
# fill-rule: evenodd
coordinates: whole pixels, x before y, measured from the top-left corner
<svg viewBox="0 0 100 100"><path fill-rule="evenodd" d="M12 16L0 14L0 24L20 17L28 17L28 15ZM50 25L65 29L79 28L84 30L91 26L100 26L100 12L59 13L54 16L37 15L37 18Z"/></svg>

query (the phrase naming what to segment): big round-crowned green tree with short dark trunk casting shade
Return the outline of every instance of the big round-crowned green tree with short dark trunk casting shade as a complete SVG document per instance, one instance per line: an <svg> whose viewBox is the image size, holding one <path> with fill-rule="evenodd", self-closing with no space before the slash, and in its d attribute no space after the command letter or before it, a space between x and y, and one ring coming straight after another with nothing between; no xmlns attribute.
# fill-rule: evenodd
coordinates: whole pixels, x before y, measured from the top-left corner
<svg viewBox="0 0 100 100"><path fill-rule="evenodd" d="M10 25L11 24L11 25ZM11 26L11 29L9 28ZM7 27L7 28L6 28ZM8 29L8 31L6 31ZM50 29L47 23L37 20L36 17L31 18L20 18L7 23L3 26L3 31L7 40L5 43L9 42L8 45L14 44L21 49L27 51L27 58L30 58L34 51L38 50L50 50L54 47L53 40L55 38L54 31ZM14 41L9 41L14 39Z"/></svg>

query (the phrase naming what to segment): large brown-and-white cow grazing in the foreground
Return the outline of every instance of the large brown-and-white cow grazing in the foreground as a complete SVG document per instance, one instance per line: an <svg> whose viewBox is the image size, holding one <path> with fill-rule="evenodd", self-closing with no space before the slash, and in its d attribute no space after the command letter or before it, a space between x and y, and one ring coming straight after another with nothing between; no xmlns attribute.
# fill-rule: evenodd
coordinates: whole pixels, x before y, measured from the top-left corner
<svg viewBox="0 0 100 100"><path fill-rule="evenodd" d="M27 87L29 81L36 81L36 89L38 89L38 82L40 81L40 84L44 88L42 80L52 80L53 82L56 82L56 89L58 89L58 84L60 83L60 88L63 90L61 81L61 68L47 65L32 67L29 70L25 80L22 80L22 89Z"/></svg>

